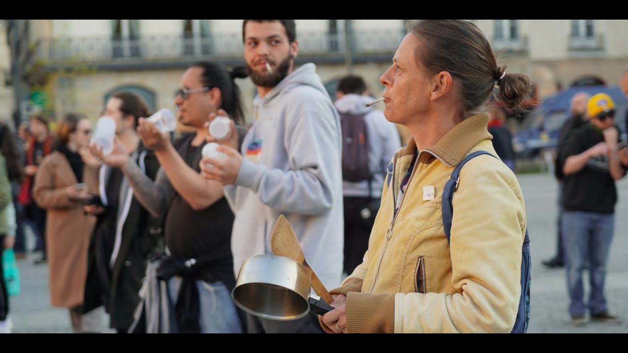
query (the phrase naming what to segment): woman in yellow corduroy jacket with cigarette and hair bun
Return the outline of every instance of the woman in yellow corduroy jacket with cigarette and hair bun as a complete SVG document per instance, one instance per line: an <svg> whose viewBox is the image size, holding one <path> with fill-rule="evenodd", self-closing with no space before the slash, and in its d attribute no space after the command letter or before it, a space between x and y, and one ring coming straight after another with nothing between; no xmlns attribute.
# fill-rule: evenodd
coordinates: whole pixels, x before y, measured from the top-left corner
<svg viewBox="0 0 628 353"><path fill-rule="evenodd" d="M526 234L516 176L498 158L473 158L453 197L450 242L441 216L455 166L474 151L497 156L485 113L495 87L509 108L532 90L505 69L475 24L409 22L380 81L386 119L412 138L391 161L362 264L331 291L327 332L511 332Z"/></svg>

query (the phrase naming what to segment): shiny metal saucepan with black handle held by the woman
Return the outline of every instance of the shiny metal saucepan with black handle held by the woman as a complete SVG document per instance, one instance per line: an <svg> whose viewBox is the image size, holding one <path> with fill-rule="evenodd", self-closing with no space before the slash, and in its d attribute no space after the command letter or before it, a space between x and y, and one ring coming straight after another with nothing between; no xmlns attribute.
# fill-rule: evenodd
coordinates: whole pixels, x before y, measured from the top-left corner
<svg viewBox="0 0 628 353"><path fill-rule="evenodd" d="M296 320L310 310L325 315L334 309L310 291L311 276L305 266L264 254L244 261L231 298L245 312L271 320Z"/></svg>

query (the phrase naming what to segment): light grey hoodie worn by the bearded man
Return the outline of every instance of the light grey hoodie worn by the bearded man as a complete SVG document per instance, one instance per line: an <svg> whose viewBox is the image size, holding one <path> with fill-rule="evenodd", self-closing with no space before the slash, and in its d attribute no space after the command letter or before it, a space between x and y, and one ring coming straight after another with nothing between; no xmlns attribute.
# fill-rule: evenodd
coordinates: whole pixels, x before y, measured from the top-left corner
<svg viewBox="0 0 628 353"><path fill-rule="evenodd" d="M342 280L344 239L338 112L313 63L253 103L242 166L235 185L225 187L236 215L236 276L247 258L273 253L271 232L283 214L308 264L328 290L335 288Z"/></svg>

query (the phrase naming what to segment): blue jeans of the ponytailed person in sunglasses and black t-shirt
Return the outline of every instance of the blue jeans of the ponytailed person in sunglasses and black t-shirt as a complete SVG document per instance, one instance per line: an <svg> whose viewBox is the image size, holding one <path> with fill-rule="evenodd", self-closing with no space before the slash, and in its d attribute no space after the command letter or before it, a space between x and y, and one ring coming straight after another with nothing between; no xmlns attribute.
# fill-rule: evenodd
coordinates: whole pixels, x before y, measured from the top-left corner
<svg viewBox="0 0 628 353"><path fill-rule="evenodd" d="M170 298L176 300L181 278L168 281ZM222 282L196 281L200 300L200 332L202 334L241 334L242 326L231 300L231 293Z"/></svg>

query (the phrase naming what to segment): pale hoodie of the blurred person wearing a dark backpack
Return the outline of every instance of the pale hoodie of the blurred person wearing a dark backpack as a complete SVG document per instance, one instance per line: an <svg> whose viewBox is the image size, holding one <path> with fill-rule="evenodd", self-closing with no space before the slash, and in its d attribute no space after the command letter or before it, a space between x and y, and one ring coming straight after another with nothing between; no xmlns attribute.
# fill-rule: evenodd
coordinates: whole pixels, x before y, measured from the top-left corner
<svg viewBox="0 0 628 353"><path fill-rule="evenodd" d="M384 188L384 175L393 156L401 148L399 130L386 120L384 113L375 109L375 106L366 107L372 102L373 97L357 94L346 94L336 100L334 105L338 112L347 114L365 114L364 122L369 133L369 169L373 175L371 182L371 196L382 197ZM342 182L342 190L345 196L367 197L369 195L369 183Z"/></svg>

